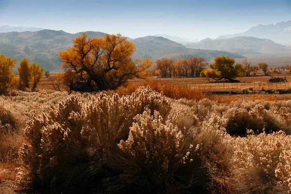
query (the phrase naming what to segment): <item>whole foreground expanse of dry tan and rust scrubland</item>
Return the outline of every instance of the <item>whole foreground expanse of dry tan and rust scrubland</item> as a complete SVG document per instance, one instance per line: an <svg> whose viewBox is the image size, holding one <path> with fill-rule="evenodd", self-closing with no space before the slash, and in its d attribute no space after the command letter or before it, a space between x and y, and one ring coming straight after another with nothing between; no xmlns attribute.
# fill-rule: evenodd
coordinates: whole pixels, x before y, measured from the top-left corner
<svg viewBox="0 0 291 194"><path fill-rule="evenodd" d="M12 91L0 96L0 190L13 180L16 193L290 193L291 100L254 96L154 82Z"/></svg>

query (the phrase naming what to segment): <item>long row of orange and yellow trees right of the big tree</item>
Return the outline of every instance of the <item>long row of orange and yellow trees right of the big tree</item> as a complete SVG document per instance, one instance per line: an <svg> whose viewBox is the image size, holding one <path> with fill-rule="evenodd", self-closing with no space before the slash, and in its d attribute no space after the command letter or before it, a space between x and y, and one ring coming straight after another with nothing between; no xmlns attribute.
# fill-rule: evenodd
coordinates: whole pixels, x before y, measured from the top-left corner
<svg viewBox="0 0 291 194"><path fill-rule="evenodd" d="M192 57L189 60L180 59L173 61L171 59L162 59L156 61L157 68L155 75L161 77L206 77L209 81L236 81L234 78L242 76L255 76L261 70L264 75L269 75L270 68L267 63L259 63L251 65L247 59L242 63L235 63L235 59L225 56L218 56L214 59L214 63L210 64L210 69L206 69L209 65L203 58ZM283 68L283 69L286 69ZM271 68L271 73L278 73L279 69ZM291 73L291 65L289 72Z"/></svg>

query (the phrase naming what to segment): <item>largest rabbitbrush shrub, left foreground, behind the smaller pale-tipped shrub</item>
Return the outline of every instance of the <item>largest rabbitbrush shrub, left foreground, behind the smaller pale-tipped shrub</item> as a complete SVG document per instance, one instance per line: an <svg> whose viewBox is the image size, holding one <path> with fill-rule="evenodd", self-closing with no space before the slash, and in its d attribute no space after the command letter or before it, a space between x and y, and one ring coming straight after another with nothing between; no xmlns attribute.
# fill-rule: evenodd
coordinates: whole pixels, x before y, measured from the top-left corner
<svg viewBox="0 0 291 194"><path fill-rule="evenodd" d="M171 109L169 100L149 87L130 96L71 96L51 104L27 123L29 144L19 153L28 173L20 171L18 183L51 193L86 193L86 186L98 187L106 153L128 138L134 116L146 108L162 117Z"/></svg>

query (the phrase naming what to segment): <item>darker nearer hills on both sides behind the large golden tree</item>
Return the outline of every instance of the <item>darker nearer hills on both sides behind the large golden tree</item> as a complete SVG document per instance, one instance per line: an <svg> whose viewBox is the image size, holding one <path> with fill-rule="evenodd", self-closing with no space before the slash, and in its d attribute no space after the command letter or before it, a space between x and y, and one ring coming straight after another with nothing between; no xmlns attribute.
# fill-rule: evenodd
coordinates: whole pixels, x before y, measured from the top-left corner
<svg viewBox="0 0 291 194"><path fill-rule="evenodd" d="M103 37L106 33L87 31L89 37ZM63 30L40 30L34 32L7 32L0 33L0 53L10 56L19 62L28 58L32 62L40 63L45 70L59 70L61 66L59 50L71 47L72 39L82 32L70 34ZM151 60L169 57L180 59L197 56L211 60L218 55L227 55L233 58L243 58L242 55L224 51L197 51L163 37L146 36L129 39L136 45L133 58L149 58ZM215 53L213 55L213 53Z"/></svg>

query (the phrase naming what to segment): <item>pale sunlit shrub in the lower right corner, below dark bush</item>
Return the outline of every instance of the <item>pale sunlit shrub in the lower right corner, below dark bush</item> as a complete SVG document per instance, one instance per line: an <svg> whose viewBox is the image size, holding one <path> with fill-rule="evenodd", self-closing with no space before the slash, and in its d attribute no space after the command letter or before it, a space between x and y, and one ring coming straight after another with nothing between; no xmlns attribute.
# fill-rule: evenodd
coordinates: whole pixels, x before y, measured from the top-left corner
<svg viewBox="0 0 291 194"><path fill-rule="evenodd" d="M284 167L281 164L284 164L282 153L290 150L290 137L283 132L249 133L247 137L235 140L232 158L235 192L287 194L288 182L284 182ZM288 178L291 178L290 175Z"/></svg>

